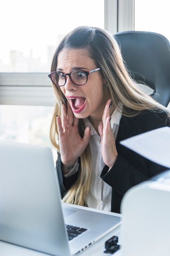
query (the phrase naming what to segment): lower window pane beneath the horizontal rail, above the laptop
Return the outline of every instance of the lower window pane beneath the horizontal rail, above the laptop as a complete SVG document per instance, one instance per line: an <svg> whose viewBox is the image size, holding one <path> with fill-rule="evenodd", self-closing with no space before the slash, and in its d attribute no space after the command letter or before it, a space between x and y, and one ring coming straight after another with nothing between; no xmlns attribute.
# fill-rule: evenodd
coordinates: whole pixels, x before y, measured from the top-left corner
<svg viewBox="0 0 170 256"><path fill-rule="evenodd" d="M51 146L53 107L0 105L0 139Z"/></svg>

